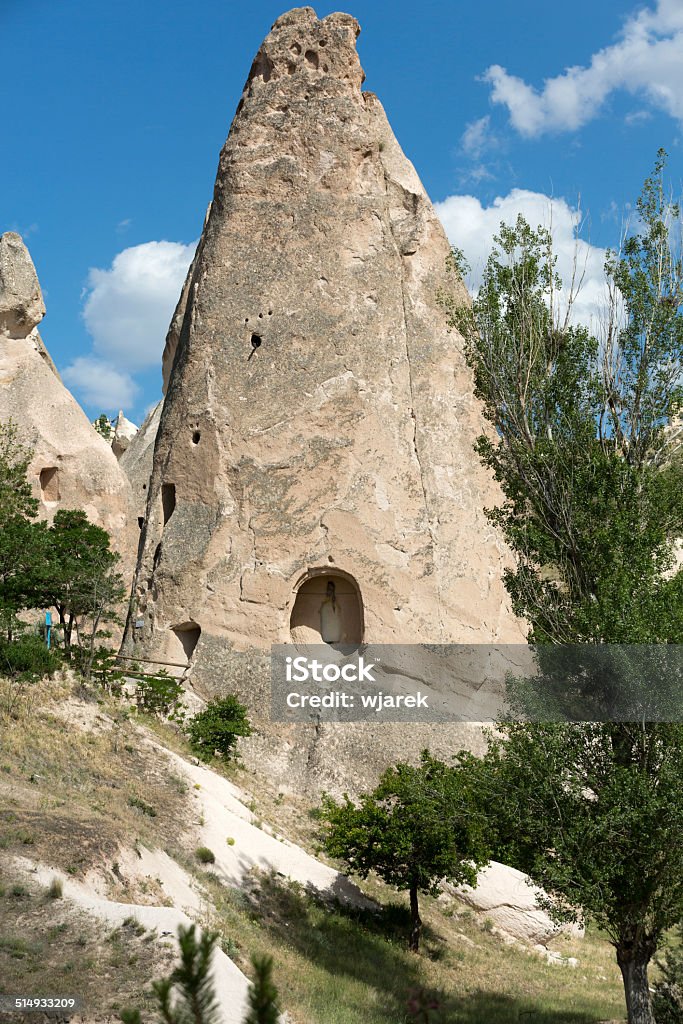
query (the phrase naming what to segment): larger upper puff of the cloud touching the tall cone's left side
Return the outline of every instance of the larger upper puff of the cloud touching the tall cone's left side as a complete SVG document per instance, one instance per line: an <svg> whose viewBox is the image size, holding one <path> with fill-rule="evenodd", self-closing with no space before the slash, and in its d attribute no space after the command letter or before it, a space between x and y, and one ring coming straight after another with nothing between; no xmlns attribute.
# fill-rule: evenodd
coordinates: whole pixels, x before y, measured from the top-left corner
<svg viewBox="0 0 683 1024"><path fill-rule="evenodd" d="M145 242L93 268L83 318L101 358L128 373L161 365L166 332L196 245Z"/></svg>

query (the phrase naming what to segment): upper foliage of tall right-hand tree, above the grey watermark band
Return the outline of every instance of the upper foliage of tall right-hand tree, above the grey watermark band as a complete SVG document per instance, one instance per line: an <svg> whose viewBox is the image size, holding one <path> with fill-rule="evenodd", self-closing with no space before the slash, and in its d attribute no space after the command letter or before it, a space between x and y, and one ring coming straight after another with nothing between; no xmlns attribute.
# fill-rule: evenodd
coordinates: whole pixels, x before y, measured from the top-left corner
<svg viewBox="0 0 683 1024"><path fill-rule="evenodd" d="M472 308L451 306L495 437L477 450L505 495L488 512L517 556L506 585L529 639L681 642L683 267L670 247L663 157L638 203L643 229L610 254L598 344L558 311L550 232L502 225ZM624 317L620 316L621 293Z"/></svg>

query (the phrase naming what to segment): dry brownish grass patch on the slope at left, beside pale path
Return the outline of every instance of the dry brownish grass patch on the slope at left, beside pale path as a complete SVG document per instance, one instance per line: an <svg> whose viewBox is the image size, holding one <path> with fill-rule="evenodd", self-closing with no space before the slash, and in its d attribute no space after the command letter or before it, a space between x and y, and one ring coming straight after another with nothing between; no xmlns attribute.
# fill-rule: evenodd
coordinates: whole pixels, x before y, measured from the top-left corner
<svg viewBox="0 0 683 1024"><path fill-rule="evenodd" d="M45 706L71 700L69 683L33 696L32 710L0 717L0 848L79 876L122 843L177 843L186 785L140 743L125 708L91 700L96 731L83 731Z"/></svg>

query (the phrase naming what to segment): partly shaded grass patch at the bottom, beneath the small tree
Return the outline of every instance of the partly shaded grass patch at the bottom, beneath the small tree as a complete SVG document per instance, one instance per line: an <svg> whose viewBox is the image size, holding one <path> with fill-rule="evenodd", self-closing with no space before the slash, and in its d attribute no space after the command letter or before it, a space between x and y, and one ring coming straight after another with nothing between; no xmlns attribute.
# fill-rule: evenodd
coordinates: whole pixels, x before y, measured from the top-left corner
<svg viewBox="0 0 683 1024"><path fill-rule="evenodd" d="M558 937L562 953L580 956L581 965L550 966L425 898L423 950L416 956L407 949L407 900L380 883L370 886L383 904L374 912L332 907L272 876L258 878L248 893L206 872L201 878L216 906L205 924L219 931L247 974L252 953L271 955L284 1008L306 1024L402 1024L412 1019L416 993L438 1006L433 1024L595 1024L624 1017L621 977L599 936Z"/></svg>

